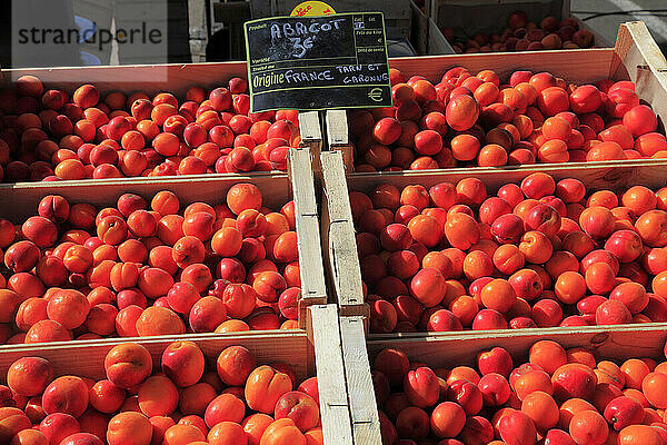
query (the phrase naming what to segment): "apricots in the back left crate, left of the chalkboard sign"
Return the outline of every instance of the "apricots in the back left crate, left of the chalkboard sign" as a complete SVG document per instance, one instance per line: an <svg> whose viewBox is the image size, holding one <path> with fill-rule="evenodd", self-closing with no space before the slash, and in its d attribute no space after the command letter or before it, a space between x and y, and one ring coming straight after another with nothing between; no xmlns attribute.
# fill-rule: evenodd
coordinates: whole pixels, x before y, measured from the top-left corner
<svg viewBox="0 0 667 445"><path fill-rule="evenodd" d="M47 89L22 76L0 89L0 180L107 179L287 169L297 111L250 112L248 82L230 79L179 101L93 85Z"/></svg>

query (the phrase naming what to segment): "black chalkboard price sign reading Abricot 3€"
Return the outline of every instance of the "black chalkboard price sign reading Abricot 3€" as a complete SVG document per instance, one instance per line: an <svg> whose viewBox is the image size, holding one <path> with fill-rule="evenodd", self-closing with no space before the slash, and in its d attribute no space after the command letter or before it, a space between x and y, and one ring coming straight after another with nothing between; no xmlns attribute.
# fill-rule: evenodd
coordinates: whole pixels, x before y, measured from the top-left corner
<svg viewBox="0 0 667 445"><path fill-rule="evenodd" d="M381 12L246 22L250 109L391 107Z"/></svg>

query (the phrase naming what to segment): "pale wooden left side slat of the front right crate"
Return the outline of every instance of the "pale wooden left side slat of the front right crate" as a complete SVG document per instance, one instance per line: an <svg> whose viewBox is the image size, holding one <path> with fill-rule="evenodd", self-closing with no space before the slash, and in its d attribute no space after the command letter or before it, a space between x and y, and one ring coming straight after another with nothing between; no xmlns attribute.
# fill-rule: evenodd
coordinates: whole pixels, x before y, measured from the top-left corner
<svg viewBox="0 0 667 445"><path fill-rule="evenodd" d="M357 445L380 445L380 419L366 350L362 317L340 317L342 359Z"/></svg>

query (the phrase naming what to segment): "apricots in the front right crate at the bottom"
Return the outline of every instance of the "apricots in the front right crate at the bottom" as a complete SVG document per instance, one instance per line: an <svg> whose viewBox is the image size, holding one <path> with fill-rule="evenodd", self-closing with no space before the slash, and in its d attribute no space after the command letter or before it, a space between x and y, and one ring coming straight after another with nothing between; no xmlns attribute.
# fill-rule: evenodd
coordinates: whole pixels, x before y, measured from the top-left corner
<svg viewBox="0 0 667 445"><path fill-rule="evenodd" d="M551 340L516 358L494 347L475 367L431 368L409 352L381 350L372 379L382 444L667 443L667 362L615 362Z"/></svg>

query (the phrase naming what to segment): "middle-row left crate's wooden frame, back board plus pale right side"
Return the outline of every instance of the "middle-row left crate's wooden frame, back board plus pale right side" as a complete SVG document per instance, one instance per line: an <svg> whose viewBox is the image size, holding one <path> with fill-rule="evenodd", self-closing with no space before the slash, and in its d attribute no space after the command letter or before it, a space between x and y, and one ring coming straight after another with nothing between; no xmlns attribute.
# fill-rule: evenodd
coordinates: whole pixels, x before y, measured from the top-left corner
<svg viewBox="0 0 667 445"><path fill-rule="evenodd" d="M21 182L0 185L0 217L18 224L37 215L39 201L47 195L61 195L70 202L88 202L99 208L112 205L118 197L133 192L151 199L160 190L178 195L181 206L193 201L218 204L225 201L227 190L238 182L255 184L262 192L262 205L279 209L295 200L297 246L301 274L299 325L305 328L308 306L327 303L319 220L315 199L310 149L290 150L290 176L277 174L205 175L122 180L93 179L86 181Z"/></svg>

